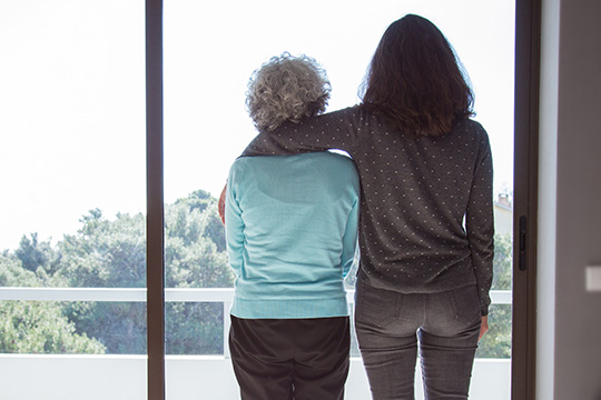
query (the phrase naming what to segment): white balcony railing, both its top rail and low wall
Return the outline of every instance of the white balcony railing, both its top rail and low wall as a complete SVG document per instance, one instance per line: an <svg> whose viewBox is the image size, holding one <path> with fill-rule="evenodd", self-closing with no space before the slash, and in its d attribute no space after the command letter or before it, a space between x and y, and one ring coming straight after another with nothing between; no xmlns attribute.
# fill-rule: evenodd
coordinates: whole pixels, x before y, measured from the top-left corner
<svg viewBox="0 0 601 400"><path fill-rule="evenodd" d="M511 303L511 291L492 291L493 303ZM233 289L166 289L167 302L219 302L224 307L224 338L229 330ZM347 293L353 303L354 293ZM2 300L144 302L146 289L0 288ZM224 339L221 356L167 356L167 400L234 400L238 387ZM147 398L146 356L0 354L2 400L144 400ZM416 371L417 399L421 393ZM477 359L471 398L510 399L511 360ZM352 358L347 400L370 399L361 358Z"/></svg>

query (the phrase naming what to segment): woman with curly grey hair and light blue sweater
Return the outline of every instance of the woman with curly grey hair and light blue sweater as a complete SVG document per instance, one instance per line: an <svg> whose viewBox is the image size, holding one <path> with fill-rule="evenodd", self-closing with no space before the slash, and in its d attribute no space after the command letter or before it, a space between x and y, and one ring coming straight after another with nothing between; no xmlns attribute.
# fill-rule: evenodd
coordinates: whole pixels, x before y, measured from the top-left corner
<svg viewBox="0 0 601 400"><path fill-rule="evenodd" d="M247 94L263 134L324 111L318 64L283 54L254 73ZM358 176L331 152L239 158L226 193L236 274L229 346L243 399L342 399L348 373L343 277L355 256Z"/></svg>

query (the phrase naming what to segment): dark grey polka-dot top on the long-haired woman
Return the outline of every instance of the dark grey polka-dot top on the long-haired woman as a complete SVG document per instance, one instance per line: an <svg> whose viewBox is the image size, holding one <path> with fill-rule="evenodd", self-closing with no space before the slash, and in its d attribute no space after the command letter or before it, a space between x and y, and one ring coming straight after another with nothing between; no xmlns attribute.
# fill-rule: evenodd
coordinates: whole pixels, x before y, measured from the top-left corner
<svg viewBox="0 0 601 400"><path fill-rule="evenodd" d="M476 284L489 312L493 271L492 157L480 123L420 137L352 107L259 133L243 156L341 149L361 177L361 272L403 293Z"/></svg>

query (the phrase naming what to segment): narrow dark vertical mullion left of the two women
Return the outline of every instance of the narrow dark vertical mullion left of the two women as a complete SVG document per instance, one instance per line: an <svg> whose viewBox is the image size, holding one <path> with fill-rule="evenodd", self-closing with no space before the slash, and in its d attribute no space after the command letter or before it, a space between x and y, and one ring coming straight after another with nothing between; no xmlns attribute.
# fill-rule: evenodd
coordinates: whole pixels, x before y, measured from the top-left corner
<svg viewBox="0 0 601 400"><path fill-rule="evenodd" d="M146 196L148 399L165 399L162 0L146 0Z"/></svg>

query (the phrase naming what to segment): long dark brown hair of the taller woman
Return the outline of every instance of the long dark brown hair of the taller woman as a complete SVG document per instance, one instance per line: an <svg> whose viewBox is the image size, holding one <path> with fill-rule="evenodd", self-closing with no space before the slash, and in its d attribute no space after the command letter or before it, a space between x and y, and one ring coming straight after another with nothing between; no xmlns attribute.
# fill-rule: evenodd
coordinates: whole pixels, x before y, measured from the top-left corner
<svg viewBox="0 0 601 400"><path fill-rule="evenodd" d="M363 107L414 136L449 133L454 121L474 114L461 61L439 28L420 16L386 29L362 90Z"/></svg>

